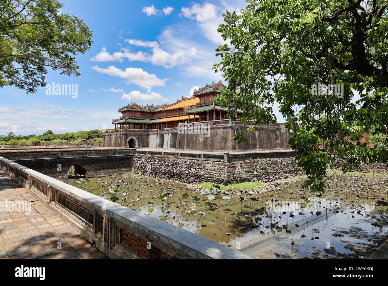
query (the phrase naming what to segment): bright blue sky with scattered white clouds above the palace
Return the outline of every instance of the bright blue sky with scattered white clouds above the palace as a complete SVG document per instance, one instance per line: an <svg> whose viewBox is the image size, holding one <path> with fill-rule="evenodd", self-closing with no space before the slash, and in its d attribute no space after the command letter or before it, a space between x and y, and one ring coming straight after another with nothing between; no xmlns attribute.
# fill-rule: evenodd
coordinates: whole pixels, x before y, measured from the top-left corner
<svg viewBox="0 0 388 286"><path fill-rule="evenodd" d="M0 89L0 135L15 126L16 134L111 128L128 102L170 104L219 81L220 73L210 69L219 60L215 48L224 44L217 26L225 10L246 6L242 0L61 2L62 13L85 20L94 44L76 58L80 76L50 70L47 83L77 85L78 96Z"/></svg>

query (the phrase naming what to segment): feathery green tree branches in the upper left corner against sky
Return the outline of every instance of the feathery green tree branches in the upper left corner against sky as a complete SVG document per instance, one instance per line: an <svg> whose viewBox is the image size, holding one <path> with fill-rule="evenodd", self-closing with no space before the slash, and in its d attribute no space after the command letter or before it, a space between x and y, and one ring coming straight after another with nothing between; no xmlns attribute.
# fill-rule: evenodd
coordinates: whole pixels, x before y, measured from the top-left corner
<svg viewBox="0 0 388 286"><path fill-rule="evenodd" d="M92 45L83 20L61 12L56 0L0 2L0 86L35 93L46 86L47 67L80 75L74 56Z"/></svg>

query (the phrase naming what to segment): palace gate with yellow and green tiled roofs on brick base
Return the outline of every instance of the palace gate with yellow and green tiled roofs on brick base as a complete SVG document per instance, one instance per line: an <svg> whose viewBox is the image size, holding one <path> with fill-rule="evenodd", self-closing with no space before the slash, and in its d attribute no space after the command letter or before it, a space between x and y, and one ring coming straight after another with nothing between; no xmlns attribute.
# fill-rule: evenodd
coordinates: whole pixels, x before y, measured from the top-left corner
<svg viewBox="0 0 388 286"><path fill-rule="evenodd" d="M121 107L118 111L122 115L112 121L114 129L104 133L104 147L234 152L289 148L290 135L282 123L255 126L253 132L244 133L248 146L237 144L233 135L246 130L246 126L228 119L232 106L216 104L222 88L225 86L221 81L213 82L173 104L140 106L135 102ZM238 119L241 116L237 110Z"/></svg>

